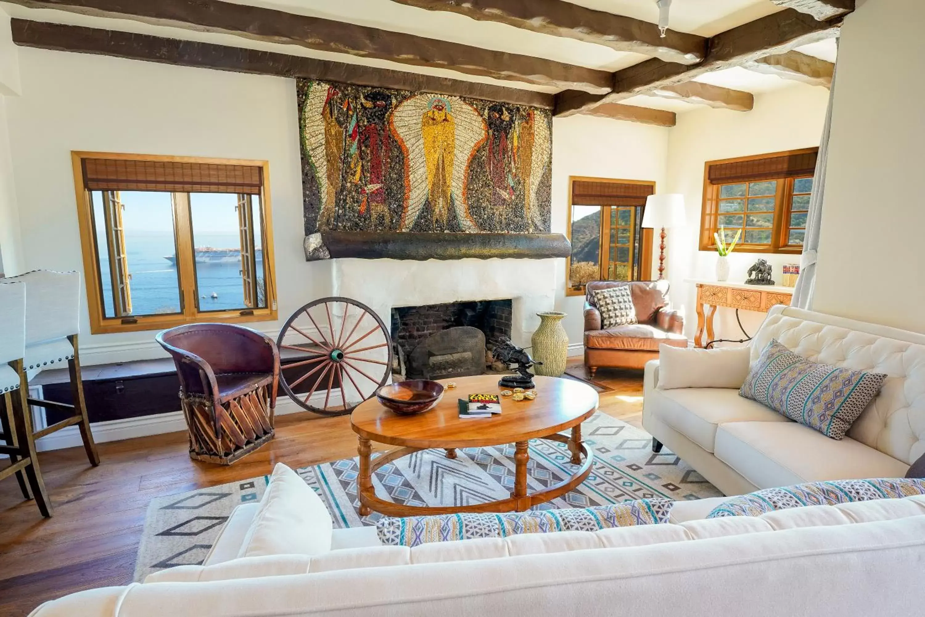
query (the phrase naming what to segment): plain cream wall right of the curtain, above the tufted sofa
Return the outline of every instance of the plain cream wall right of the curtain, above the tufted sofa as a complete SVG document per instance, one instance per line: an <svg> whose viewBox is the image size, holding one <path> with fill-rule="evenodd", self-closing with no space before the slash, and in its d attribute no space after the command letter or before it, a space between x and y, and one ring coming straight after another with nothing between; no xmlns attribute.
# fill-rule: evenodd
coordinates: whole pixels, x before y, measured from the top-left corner
<svg viewBox="0 0 925 617"><path fill-rule="evenodd" d="M925 3L845 19L813 310L925 332Z"/></svg>

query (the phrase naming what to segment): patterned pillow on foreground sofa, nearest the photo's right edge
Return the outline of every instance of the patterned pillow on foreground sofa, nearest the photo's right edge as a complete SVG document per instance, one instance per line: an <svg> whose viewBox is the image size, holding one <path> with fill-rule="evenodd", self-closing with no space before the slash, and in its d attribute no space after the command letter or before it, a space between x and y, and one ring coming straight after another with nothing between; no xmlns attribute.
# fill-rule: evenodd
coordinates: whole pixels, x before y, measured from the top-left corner
<svg viewBox="0 0 925 617"><path fill-rule="evenodd" d="M767 512L802 506L831 506L852 501L896 500L909 495L925 495L925 480L876 478L808 482L793 487L765 488L747 495L739 495L723 501L707 514L707 518L760 516Z"/></svg>

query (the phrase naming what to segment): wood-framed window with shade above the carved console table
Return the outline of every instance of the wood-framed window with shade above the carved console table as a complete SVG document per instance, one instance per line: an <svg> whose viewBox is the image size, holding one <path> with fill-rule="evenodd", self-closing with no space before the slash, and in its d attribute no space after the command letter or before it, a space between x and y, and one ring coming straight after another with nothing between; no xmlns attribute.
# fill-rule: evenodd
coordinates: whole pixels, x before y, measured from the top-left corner
<svg viewBox="0 0 925 617"><path fill-rule="evenodd" d="M735 250L800 253L819 148L709 161L704 171L700 250L739 232Z"/></svg>

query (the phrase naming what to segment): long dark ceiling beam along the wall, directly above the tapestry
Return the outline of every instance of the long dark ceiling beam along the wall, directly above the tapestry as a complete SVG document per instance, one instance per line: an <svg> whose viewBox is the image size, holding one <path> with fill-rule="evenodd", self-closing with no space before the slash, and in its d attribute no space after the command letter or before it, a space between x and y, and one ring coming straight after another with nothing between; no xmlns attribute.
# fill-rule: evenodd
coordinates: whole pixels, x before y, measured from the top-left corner
<svg viewBox="0 0 925 617"><path fill-rule="evenodd" d="M277 77L339 81L375 88L471 96L515 105L552 108L552 94L473 81L449 80L401 70L26 19L12 19L10 25L13 43L24 47L116 56L183 67L215 68Z"/></svg>

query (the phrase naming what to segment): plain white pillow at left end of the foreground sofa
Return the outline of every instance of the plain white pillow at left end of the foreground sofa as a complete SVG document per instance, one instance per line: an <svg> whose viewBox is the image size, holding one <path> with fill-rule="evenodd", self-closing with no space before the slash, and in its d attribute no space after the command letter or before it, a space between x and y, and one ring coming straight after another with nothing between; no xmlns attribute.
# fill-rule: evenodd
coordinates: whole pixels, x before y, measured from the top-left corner
<svg viewBox="0 0 925 617"><path fill-rule="evenodd" d="M277 463L238 557L324 553L331 549L333 526L324 501L298 474Z"/></svg>

